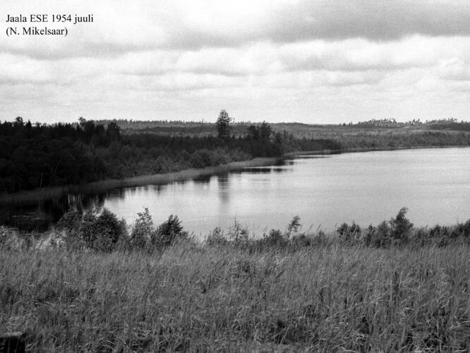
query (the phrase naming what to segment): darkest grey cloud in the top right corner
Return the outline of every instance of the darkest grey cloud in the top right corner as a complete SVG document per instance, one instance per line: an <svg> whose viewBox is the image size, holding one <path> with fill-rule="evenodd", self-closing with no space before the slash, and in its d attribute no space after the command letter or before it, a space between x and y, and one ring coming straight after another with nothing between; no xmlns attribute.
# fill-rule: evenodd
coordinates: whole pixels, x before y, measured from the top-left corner
<svg viewBox="0 0 470 353"><path fill-rule="evenodd" d="M300 1L278 13L265 32L273 40L397 40L409 35L469 35L470 3L423 0Z"/></svg>

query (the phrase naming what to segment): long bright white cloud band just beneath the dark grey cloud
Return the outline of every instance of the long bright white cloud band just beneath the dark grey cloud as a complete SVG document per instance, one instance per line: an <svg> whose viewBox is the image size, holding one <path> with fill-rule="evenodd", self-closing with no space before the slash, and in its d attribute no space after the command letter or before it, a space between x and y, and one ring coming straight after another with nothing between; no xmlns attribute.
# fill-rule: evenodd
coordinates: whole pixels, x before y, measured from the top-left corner
<svg viewBox="0 0 470 353"><path fill-rule="evenodd" d="M380 43L361 39L256 42L236 48L128 53L114 59L114 65L122 73L142 76L170 72L250 76L289 71L397 71L432 68L452 58L470 59L469 48L467 37L414 36Z"/></svg>

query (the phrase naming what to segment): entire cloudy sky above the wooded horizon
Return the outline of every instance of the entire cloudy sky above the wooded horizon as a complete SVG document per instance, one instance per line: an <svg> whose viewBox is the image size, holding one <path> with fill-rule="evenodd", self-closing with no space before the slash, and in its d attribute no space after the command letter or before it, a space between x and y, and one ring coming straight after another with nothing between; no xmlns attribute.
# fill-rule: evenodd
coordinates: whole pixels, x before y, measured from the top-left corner
<svg viewBox="0 0 470 353"><path fill-rule="evenodd" d="M468 0L0 1L0 121L469 120L469 95Z"/></svg>

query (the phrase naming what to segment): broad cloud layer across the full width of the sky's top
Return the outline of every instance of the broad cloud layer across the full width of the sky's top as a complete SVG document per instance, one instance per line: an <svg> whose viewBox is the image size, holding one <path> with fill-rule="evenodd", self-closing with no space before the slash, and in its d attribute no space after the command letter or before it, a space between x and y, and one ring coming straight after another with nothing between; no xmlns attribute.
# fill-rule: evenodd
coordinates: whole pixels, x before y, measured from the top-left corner
<svg viewBox="0 0 470 353"><path fill-rule="evenodd" d="M66 38L0 37L1 52L61 59L112 57L157 49L195 51L253 42L294 43L362 38L369 42L414 35L470 35L467 0L163 0L2 1L0 13L71 13L93 23L68 24ZM6 23L2 23L2 30ZM29 24L30 25L30 24ZM53 23L48 23L53 28ZM62 27L62 25L60 25Z"/></svg>

